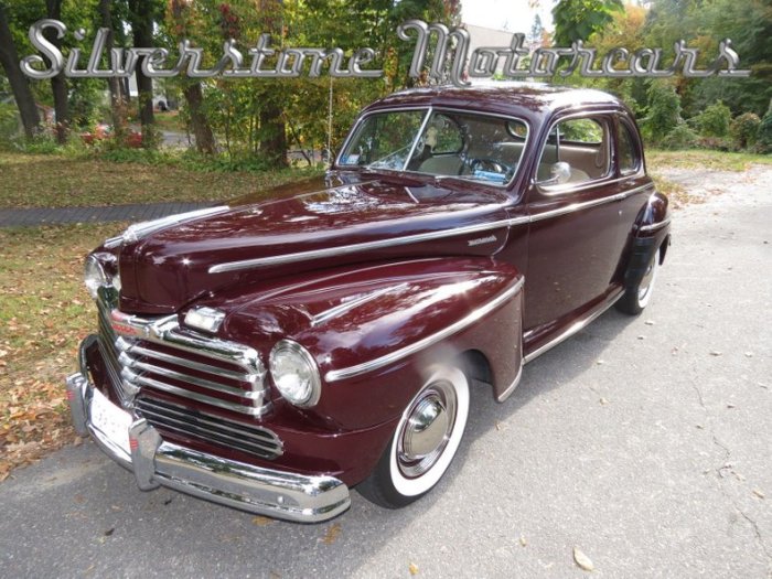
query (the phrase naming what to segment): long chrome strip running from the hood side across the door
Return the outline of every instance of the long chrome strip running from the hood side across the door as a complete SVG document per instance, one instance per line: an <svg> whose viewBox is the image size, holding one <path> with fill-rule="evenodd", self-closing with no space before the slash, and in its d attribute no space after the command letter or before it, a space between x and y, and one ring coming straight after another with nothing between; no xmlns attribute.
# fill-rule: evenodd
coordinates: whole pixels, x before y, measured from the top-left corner
<svg viewBox="0 0 772 579"><path fill-rule="evenodd" d="M431 242L435 239L444 239L446 237L455 237L457 235L465 235L471 233L487 232L491 229L497 229L500 227L514 227L515 225L523 225L526 223L535 223L543 219L549 219L553 217L559 217L561 215L567 215L576 211L587 210L598 205L603 205L604 203L613 203L616 201L622 201L640 191L645 191L647 189L654 187L653 183L647 183L645 185L618 193L610 197L603 197L600 200L586 201L583 203L573 203L567 205L566 207L560 207L557 210L546 211L544 213L538 213L536 215L523 215L518 217L512 217L510 219L501 219L491 223L481 223L478 225L465 225L463 227L457 227L454 229L442 229L439 232L428 232L415 235L406 235L405 237L395 237L390 239L378 239L377 242L364 242L361 244L343 245L340 247L325 247L324 249L312 249L310 251L298 251L294 254L285 254L279 256L270 257L257 257L255 259L243 259L240 261L228 261L225 264L217 264L211 266L208 269L210 274L223 274L225 271L238 271L242 269L253 269L268 266L278 266L285 264L294 264L297 261L305 261L311 259L323 259L326 257L335 257L339 255L355 254L358 251L367 251L371 249L384 249L386 247L396 247L399 245Z"/></svg>

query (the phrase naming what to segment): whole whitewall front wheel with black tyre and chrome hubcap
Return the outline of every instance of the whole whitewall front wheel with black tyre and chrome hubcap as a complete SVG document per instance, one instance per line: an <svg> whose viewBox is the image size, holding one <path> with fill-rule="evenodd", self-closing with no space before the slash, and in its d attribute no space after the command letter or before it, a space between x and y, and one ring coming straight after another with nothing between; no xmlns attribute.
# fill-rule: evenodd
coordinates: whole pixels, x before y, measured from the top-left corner
<svg viewBox="0 0 772 579"><path fill-rule="evenodd" d="M452 366L437 366L407 406L373 473L357 490L387 508L428 493L448 470L469 416L469 380Z"/></svg>

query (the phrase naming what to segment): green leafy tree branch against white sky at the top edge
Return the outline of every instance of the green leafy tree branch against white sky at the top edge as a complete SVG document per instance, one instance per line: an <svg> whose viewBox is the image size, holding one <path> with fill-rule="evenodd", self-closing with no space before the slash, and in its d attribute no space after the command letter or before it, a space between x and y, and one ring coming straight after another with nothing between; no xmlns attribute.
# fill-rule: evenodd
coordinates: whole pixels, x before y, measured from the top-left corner
<svg viewBox="0 0 772 579"><path fill-rule="evenodd" d="M555 42L569 46L576 40L590 37L613 20L615 11L623 10L622 0L562 0L553 8Z"/></svg>

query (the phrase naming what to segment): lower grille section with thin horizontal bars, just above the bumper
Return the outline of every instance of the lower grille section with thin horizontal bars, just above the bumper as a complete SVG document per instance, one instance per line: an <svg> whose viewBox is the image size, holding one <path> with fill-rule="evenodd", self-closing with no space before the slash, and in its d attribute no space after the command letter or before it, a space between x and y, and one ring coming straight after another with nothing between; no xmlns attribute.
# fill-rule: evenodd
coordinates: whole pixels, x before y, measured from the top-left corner
<svg viewBox="0 0 772 579"><path fill-rule="evenodd" d="M141 395L137 412L160 431L239 450L261 459L283 452L281 441L266 428L192 410L184 406Z"/></svg>

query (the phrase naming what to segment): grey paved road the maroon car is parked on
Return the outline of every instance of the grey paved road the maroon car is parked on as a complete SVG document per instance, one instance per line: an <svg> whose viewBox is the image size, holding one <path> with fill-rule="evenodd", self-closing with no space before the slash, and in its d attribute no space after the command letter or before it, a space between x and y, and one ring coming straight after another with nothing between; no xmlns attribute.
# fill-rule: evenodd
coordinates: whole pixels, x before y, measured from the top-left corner
<svg viewBox="0 0 772 579"><path fill-rule="evenodd" d="M414 506L354 493L334 522L266 525L141 493L84 443L0 485L0 576L580 577L578 546L598 577L769 578L772 171L680 178L731 191L676 214L650 310L608 312L503 405L478 396Z"/></svg>

